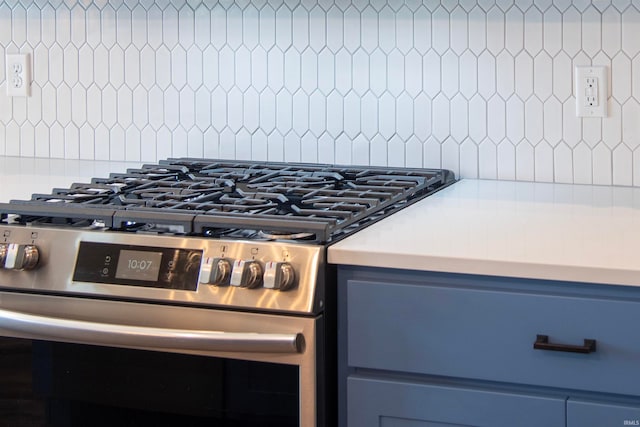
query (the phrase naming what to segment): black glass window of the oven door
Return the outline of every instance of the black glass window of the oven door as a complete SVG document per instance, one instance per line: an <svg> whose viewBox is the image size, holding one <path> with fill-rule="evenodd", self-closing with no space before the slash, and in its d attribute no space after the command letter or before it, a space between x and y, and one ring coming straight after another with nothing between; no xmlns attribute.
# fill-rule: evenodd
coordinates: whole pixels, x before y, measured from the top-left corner
<svg viewBox="0 0 640 427"><path fill-rule="evenodd" d="M54 426L297 426L298 367L34 342Z"/></svg>

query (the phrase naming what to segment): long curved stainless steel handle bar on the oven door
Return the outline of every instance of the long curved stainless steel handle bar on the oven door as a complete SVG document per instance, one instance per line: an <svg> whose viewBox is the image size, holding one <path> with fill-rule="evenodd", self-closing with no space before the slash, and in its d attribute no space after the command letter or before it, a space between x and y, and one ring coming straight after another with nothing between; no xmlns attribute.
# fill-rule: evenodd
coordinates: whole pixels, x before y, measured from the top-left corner
<svg viewBox="0 0 640 427"><path fill-rule="evenodd" d="M31 339L158 350L301 353L302 333L166 329L61 319L0 309L0 331Z"/></svg>

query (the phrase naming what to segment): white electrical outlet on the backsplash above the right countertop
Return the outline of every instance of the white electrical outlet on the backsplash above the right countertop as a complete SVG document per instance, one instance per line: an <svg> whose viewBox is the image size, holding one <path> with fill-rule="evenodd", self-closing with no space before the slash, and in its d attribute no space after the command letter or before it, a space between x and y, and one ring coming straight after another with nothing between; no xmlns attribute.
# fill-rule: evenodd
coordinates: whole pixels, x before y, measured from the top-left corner
<svg viewBox="0 0 640 427"><path fill-rule="evenodd" d="M607 117L607 67L576 67L576 116Z"/></svg>

